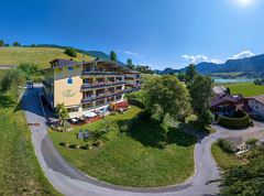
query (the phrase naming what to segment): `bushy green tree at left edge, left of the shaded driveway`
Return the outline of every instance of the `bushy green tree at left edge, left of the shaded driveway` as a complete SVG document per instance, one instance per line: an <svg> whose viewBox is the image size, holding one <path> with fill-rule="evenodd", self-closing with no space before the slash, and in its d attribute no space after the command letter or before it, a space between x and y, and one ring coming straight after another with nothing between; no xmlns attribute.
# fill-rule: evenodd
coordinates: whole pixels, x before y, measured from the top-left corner
<svg viewBox="0 0 264 196"><path fill-rule="evenodd" d="M20 69L9 69L4 74L0 85L0 95L7 95L11 101L16 102L20 98L21 87L25 84L25 77Z"/></svg>

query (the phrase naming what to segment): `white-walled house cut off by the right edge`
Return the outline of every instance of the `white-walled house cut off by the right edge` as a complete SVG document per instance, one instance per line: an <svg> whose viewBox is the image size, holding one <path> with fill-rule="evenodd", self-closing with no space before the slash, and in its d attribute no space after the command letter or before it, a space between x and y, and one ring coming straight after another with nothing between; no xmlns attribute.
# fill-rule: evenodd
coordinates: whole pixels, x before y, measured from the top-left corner
<svg viewBox="0 0 264 196"><path fill-rule="evenodd" d="M249 97L246 99L251 108L251 115L264 117L264 95Z"/></svg>

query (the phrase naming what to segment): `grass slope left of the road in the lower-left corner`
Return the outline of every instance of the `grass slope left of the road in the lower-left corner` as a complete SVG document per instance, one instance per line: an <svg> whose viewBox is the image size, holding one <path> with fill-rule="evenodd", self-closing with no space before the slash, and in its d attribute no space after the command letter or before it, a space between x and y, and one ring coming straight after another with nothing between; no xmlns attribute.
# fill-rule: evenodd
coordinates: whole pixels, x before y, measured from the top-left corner
<svg viewBox="0 0 264 196"><path fill-rule="evenodd" d="M59 195L44 176L20 107L0 106L0 195Z"/></svg>

